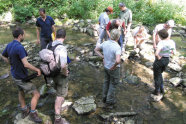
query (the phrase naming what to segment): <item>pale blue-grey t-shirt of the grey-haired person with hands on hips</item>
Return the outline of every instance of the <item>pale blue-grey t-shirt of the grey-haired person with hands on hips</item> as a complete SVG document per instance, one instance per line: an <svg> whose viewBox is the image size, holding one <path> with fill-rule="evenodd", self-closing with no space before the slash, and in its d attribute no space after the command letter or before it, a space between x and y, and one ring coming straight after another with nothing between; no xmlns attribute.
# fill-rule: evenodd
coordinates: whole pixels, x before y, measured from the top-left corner
<svg viewBox="0 0 186 124"><path fill-rule="evenodd" d="M116 55L121 55L121 47L116 41L108 40L104 41L100 46L104 55L104 67L110 69L116 63ZM117 65L120 67L120 65Z"/></svg>

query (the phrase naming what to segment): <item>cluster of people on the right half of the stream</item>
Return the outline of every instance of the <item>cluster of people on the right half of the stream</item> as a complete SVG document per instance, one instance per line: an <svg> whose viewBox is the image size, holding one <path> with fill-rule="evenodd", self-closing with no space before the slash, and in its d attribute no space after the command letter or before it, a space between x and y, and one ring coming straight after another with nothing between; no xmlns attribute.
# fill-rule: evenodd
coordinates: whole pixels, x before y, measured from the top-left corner
<svg viewBox="0 0 186 124"><path fill-rule="evenodd" d="M117 19L109 20L113 13L111 7L107 7L105 12L99 17L99 39L95 52L102 57L104 62L104 84L103 103L106 107L113 108L116 103L116 87L120 81L121 55L125 52L126 43L132 24L132 12L124 3L119 3L120 14ZM151 94L154 101L163 98L163 77L172 53L175 53L175 42L171 40L171 32L174 21L168 20L165 24L158 24L153 31L153 48L155 61L153 64L155 90ZM147 40L148 34L144 26L138 26L133 30L134 50L140 48L141 44ZM105 40L105 41L103 41ZM102 51L102 52L101 52Z"/></svg>

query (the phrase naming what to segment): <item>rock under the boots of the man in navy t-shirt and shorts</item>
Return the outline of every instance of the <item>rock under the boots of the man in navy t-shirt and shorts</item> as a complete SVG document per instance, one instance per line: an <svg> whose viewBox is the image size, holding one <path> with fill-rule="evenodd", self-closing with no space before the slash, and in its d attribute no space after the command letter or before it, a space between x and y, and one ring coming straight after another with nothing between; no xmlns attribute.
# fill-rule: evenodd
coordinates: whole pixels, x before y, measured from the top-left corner
<svg viewBox="0 0 186 124"><path fill-rule="evenodd" d="M42 118L43 124L52 124L52 120L49 116L44 115L42 113L38 113L39 117ZM35 124L35 122L29 120L29 116L26 118L22 119L21 118L21 113L17 114L14 120L14 124Z"/></svg>

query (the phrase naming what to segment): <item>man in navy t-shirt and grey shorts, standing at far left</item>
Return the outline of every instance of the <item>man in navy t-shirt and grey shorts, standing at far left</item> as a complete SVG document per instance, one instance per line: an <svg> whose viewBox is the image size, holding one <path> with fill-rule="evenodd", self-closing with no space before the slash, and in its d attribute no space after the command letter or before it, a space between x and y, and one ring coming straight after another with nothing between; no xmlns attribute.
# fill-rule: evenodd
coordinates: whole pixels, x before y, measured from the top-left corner
<svg viewBox="0 0 186 124"><path fill-rule="evenodd" d="M10 42L2 53L2 58L11 65L12 78L19 89L19 102L21 104L22 118L29 114L29 118L36 122L42 122L35 111L38 99L40 97L34 84L25 82L24 79L28 76L27 68L41 75L41 71L31 65L27 61L27 52L21 42L24 40L24 31L21 28L16 28L12 31L14 40ZM31 111L25 104L25 93L32 93Z"/></svg>

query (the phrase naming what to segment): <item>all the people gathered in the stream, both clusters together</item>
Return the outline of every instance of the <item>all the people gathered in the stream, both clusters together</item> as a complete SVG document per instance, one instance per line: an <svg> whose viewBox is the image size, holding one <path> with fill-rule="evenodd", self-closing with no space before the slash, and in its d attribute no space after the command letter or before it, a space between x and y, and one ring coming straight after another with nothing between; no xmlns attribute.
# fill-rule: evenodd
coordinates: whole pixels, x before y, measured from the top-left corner
<svg viewBox="0 0 186 124"><path fill-rule="evenodd" d="M116 103L116 87L120 80L120 62L121 54L125 51L127 42L127 34L130 33L132 24L132 12L124 3L119 4L121 10L118 19L109 20L108 15L113 12L111 7L105 9L99 17L99 39L96 44L95 52L103 58L104 63L104 83L103 83L103 103L106 108L113 108ZM63 45L66 37L66 31L59 29L55 31L55 22L52 17L47 16L45 9L39 10L40 17L37 18L37 43L41 49L46 49L48 44L52 46L58 45L54 50L55 59L61 67L61 71L52 77L57 92L55 100L55 124L67 124L68 122L61 117L61 106L64 103L65 96L68 92L68 57L67 49ZM169 63L169 57L175 50L175 43L170 39L171 28L174 21L169 20L165 24L157 25L153 33L153 46L155 51L155 62L153 65L155 91L153 98L160 97L164 93L162 72ZM139 27L134 34L136 48L145 40L145 28ZM55 40L52 41L51 34L55 34ZM24 40L23 29L17 27L12 31L14 40L10 42L2 53L2 58L11 65L11 75L14 83L19 89L19 102L21 104L22 117L29 118L36 123L41 123L42 119L36 111L37 102L40 94L36 86L31 82L25 82L28 77L27 69L37 72L37 76L41 76L39 68L34 67L27 61L27 52L21 44ZM103 41L105 40L105 41ZM25 103L25 93L32 93L31 108Z"/></svg>

